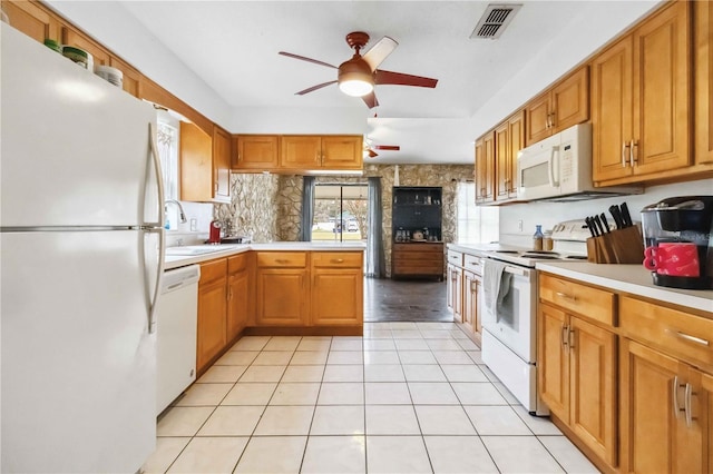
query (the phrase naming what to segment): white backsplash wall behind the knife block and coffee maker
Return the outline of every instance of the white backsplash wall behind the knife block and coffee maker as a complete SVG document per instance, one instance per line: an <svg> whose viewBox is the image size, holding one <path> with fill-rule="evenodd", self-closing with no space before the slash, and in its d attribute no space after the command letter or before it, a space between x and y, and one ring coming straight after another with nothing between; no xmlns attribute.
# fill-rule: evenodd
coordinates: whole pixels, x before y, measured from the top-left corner
<svg viewBox="0 0 713 474"><path fill-rule="evenodd" d="M500 241L510 245L528 247L537 224L543 230L551 229L554 225L587 216L606 213L613 204L626 203L633 220L641 220L641 210L661 199L674 196L713 195L713 179L702 179L675 185L652 186L643 195L619 196L613 198L592 199L577 203L525 203L500 207ZM518 230L518 223L522 220L522 231Z"/></svg>

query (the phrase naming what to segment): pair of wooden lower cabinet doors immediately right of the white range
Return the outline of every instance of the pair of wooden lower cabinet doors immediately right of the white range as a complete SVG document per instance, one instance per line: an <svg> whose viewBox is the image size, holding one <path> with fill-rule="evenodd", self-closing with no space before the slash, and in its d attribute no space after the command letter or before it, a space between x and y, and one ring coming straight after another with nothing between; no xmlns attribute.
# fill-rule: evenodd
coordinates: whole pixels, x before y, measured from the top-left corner
<svg viewBox="0 0 713 474"><path fill-rule="evenodd" d="M541 304L538 384L543 401L598 457L617 465L616 335Z"/></svg>

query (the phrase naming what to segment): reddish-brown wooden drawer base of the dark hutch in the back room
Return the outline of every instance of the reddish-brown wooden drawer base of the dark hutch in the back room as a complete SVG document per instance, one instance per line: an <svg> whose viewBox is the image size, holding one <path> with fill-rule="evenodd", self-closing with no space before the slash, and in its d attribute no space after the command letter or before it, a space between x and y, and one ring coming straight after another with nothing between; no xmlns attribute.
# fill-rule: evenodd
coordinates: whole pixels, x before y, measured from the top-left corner
<svg viewBox="0 0 713 474"><path fill-rule="evenodd" d="M393 244L391 277L443 279L443 244Z"/></svg>

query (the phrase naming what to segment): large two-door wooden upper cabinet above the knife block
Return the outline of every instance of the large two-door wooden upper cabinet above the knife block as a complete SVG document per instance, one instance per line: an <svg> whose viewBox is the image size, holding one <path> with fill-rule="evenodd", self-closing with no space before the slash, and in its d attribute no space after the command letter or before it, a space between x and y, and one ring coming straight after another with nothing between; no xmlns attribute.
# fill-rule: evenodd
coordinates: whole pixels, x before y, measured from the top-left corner
<svg viewBox="0 0 713 474"><path fill-rule="evenodd" d="M593 60L595 182L665 177L691 164L690 9L671 2Z"/></svg>

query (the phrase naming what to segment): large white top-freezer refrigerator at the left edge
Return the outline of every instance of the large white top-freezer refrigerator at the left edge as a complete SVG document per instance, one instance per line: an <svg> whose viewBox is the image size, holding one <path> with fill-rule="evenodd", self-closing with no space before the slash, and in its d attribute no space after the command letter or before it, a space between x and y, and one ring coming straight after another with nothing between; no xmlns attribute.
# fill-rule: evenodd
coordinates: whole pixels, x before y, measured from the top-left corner
<svg viewBox="0 0 713 474"><path fill-rule="evenodd" d="M1 30L0 470L135 473L156 442L156 115Z"/></svg>

